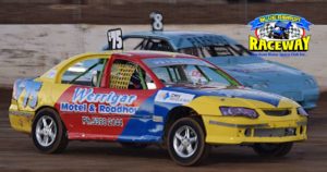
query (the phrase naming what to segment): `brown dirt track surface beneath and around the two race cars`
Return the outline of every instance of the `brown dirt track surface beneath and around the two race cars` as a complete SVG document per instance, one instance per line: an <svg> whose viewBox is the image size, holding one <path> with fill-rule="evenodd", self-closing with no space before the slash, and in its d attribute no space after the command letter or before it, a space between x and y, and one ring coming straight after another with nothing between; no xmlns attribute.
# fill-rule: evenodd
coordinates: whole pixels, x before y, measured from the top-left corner
<svg viewBox="0 0 327 172"><path fill-rule="evenodd" d="M60 155L43 155L32 139L10 127L8 108L10 89L0 89L0 171L326 171L327 94L311 112L308 140L295 144L284 158L262 159L249 147L213 149L202 167L175 165L167 151L155 146L144 150L122 148L117 144L71 142Z"/></svg>

